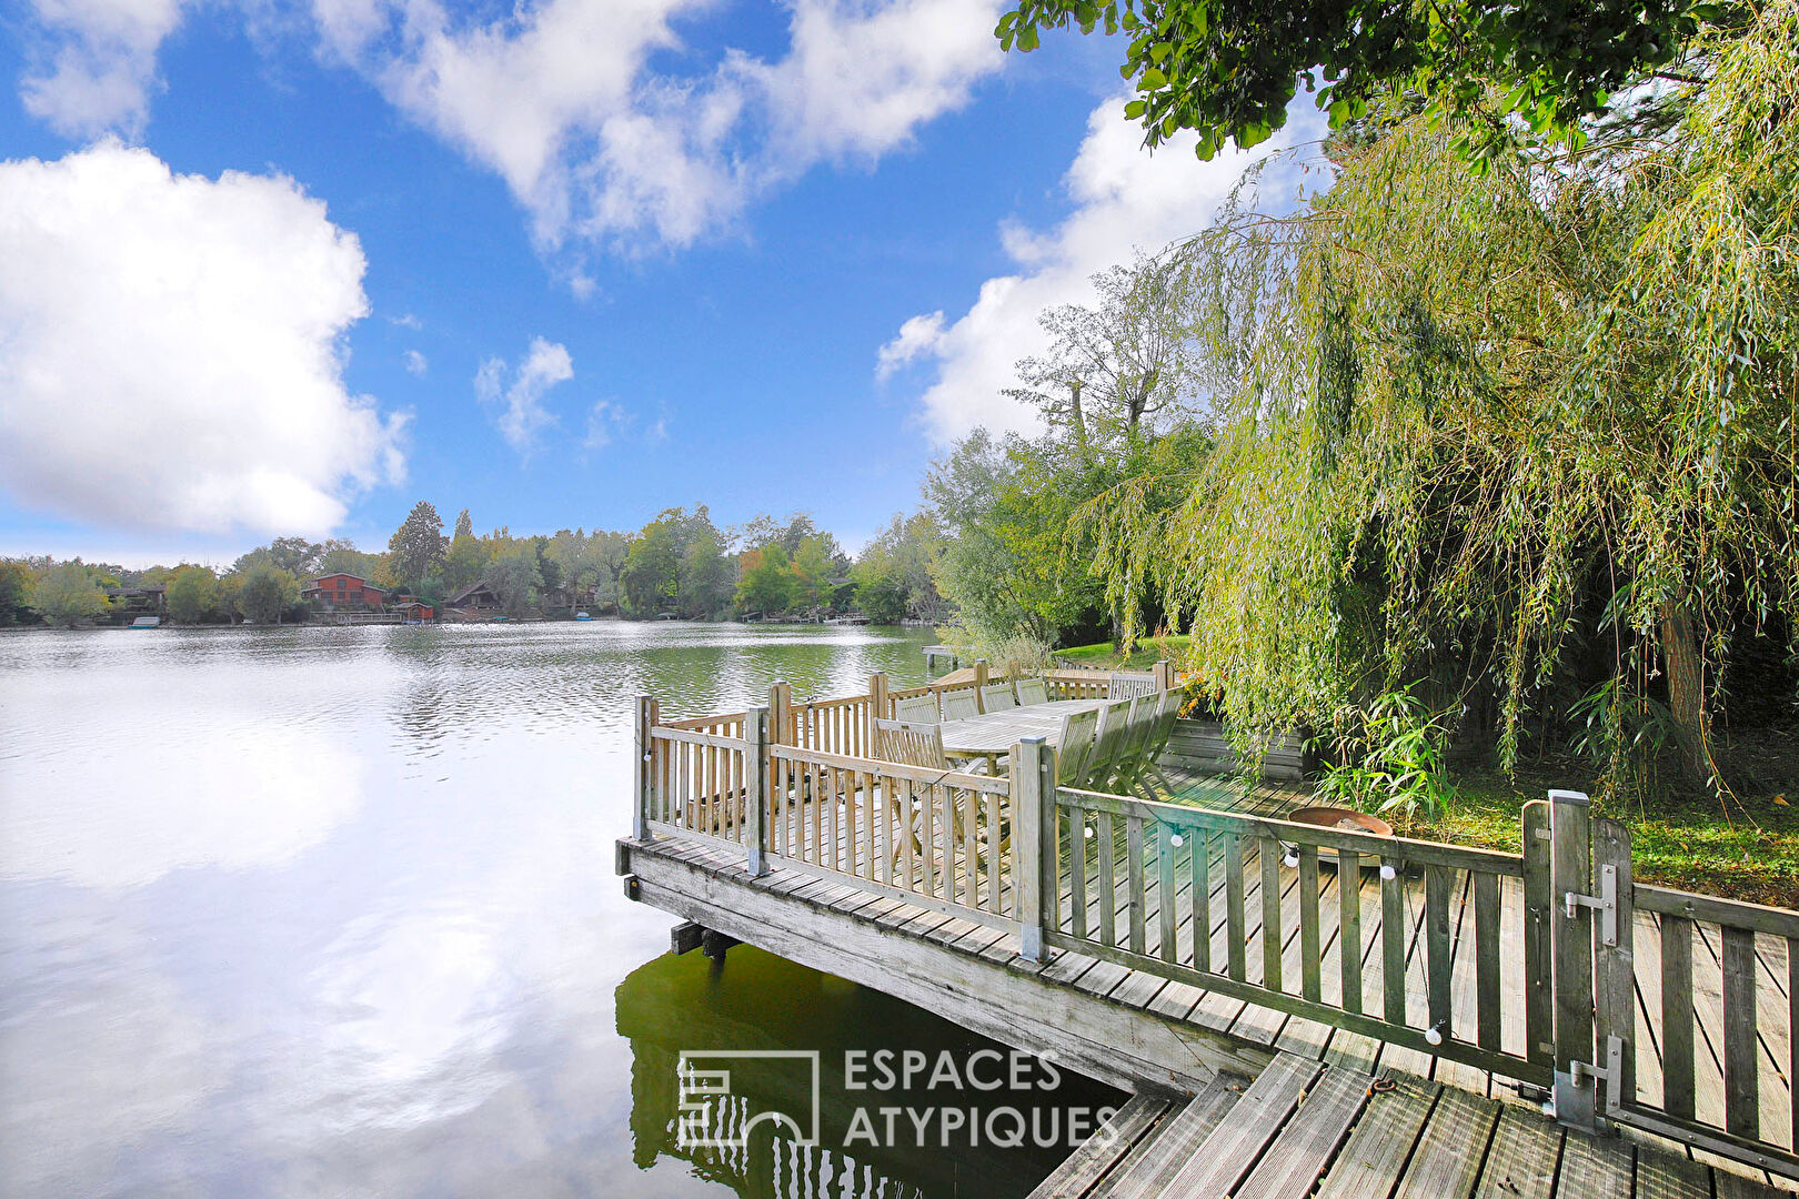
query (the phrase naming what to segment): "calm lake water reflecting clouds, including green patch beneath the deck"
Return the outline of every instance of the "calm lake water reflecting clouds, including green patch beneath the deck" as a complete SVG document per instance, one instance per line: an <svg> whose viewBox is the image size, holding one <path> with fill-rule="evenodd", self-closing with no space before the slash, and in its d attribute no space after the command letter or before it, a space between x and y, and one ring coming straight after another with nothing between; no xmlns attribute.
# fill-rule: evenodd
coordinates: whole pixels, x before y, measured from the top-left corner
<svg viewBox="0 0 1799 1199"><path fill-rule="evenodd" d="M673 919L612 874L631 696L700 715L777 678L910 685L925 640L0 636L0 1194L1025 1194L1065 1149L917 1149L901 1124L896 1147L842 1152L856 1107L995 1102L846 1093L844 1050L986 1043L748 947L669 956ZM676 1147L676 1055L745 1046L824 1053L824 1149ZM768 1068L736 1089L790 1086ZM1117 1095L1063 1077L1047 1100Z"/></svg>

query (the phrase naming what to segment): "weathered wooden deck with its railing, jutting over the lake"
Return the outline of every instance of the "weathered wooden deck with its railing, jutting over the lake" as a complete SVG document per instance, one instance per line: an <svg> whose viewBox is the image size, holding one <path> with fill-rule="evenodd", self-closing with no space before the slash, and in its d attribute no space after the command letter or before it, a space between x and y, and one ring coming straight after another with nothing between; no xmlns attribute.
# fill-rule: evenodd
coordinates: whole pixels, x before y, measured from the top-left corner
<svg viewBox="0 0 1799 1199"><path fill-rule="evenodd" d="M1133 1093L1040 1194L1788 1186L1761 1167L1794 1170L1799 915L1632 884L1619 825L1592 820L1589 852L1585 796L1553 823L1531 805L1522 854L1383 841L1283 822L1304 791L1191 753L1164 757L1159 802L1058 787L1036 741L1000 777L871 760L894 696L775 685L669 724L646 697L619 872ZM1581 1131L1601 1095L1621 1136Z"/></svg>

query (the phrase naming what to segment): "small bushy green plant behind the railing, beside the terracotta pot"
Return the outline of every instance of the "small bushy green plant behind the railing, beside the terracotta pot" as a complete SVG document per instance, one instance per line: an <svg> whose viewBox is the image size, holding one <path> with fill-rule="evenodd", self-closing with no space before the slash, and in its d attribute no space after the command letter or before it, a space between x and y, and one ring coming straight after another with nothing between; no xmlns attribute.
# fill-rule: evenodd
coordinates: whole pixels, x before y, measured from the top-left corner
<svg viewBox="0 0 1799 1199"><path fill-rule="evenodd" d="M1346 712L1344 723L1349 728L1337 737L1337 762L1319 780L1319 800L1405 822L1448 811L1455 787L1443 762L1450 737L1443 714L1403 688Z"/></svg>

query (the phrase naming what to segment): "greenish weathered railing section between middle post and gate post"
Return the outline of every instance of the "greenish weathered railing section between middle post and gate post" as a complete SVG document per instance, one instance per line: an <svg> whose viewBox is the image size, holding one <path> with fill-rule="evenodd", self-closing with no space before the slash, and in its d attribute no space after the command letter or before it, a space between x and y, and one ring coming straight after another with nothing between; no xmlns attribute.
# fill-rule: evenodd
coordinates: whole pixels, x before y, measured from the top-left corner
<svg viewBox="0 0 1799 1199"><path fill-rule="evenodd" d="M1531 904L1547 906L1536 895L1502 911L1502 883L1524 877L1518 856L1052 793L1045 944L1549 1084L1549 1059L1524 1035L1547 1012L1547 978L1500 956L1502 920L1517 944ZM1455 928L1464 904L1452 897L1470 901L1475 928Z"/></svg>

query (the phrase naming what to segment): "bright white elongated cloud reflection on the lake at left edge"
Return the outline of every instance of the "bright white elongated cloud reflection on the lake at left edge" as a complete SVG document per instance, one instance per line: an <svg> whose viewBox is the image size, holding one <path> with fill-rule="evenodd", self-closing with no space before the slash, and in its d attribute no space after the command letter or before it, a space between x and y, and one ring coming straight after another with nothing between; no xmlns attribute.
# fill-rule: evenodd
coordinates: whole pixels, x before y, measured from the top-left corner
<svg viewBox="0 0 1799 1199"><path fill-rule="evenodd" d="M0 879L128 888L180 866L273 865L322 841L362 791L360 759L308 728L0 760Z"/></svg>

